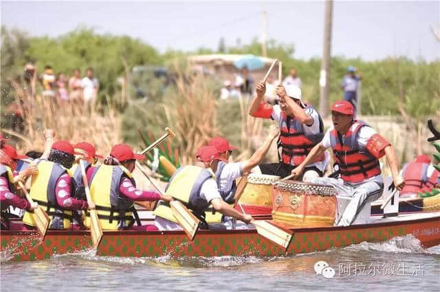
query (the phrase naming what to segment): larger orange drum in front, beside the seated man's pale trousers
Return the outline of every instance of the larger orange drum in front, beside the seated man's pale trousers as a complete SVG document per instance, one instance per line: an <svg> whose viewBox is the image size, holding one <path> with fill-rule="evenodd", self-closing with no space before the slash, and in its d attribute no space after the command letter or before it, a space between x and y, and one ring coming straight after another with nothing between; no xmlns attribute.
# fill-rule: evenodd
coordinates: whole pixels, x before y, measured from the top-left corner
<svg viewBox="0 0 440 292"><path fill-rule="evenodd" d="M272 219L287 227L333 226L336 189L333 186L286 180L274 186Z"/></svg>

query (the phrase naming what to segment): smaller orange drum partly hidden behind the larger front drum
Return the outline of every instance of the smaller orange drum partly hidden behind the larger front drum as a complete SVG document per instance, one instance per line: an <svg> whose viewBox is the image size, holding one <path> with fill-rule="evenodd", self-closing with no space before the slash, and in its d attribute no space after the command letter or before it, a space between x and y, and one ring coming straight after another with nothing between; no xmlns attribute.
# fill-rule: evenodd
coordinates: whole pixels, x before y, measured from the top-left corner
<svg viewBox="0 0 440 292"><path fill-rule="evenodd" d="M255 173L248 175L248 184L239 200L245 212L249 215L270 215L272 212L272 187L278 180L280 177L276 175Z"/></svg>

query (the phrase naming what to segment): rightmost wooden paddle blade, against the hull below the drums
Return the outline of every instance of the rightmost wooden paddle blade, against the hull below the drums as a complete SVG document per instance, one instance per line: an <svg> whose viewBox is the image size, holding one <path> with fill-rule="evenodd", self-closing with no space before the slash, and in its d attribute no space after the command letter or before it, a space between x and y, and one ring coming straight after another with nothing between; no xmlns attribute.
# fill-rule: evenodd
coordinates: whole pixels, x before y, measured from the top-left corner
<svg viewBox="0 0 440 292"><path fill-rule="evenodd" d="M286 251L289 247L290 241L292 241L292 236L294 232L286 228L281 228L273 223L265 220L254 220L251 222L256 227L256 232L261 236L269 239L273 243L280 245Z"/></svg>

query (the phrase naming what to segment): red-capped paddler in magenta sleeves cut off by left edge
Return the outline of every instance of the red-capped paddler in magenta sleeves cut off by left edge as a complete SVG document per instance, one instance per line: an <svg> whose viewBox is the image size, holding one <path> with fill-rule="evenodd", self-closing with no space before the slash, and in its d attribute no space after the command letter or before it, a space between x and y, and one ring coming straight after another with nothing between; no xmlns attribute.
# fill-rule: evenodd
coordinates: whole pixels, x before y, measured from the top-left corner
<svg viewBox="0 0 440 292"><path fill-rule="evenodd" d="M1 230L8 230L10 228L10 220L5 210L9 206L25 210L34 210L38 208L38 204L30 204L27 199L21 198L15 194L14 184L17 181L24 182L25 178L30 175L38 173L38 169L28 167L21 171L18 175L13 175L17 160L26 158L27 156L17 154L17 151L11 145L5 144L0 149L0 206L1 206Z"/></svg>

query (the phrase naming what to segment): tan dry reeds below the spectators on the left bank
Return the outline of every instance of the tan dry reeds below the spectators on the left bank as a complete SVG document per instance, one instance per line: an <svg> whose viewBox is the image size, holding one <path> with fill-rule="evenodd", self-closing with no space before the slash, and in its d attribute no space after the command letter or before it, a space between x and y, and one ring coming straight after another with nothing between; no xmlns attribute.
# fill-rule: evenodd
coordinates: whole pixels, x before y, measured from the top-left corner
<svg viewBox="0 0 440 292"><path fill-rule="evenodd" d="M95 108L82 103L61 103L40 95L32 97L15 82L12 86L23 121L20 131L17 127L2 131L19 138L17 147L21 151L43 149L43 130L46 128L55 131L55 140L87 141L102 154L108 154L114 144L120 143L120 114L112 106Z"/></svg>

